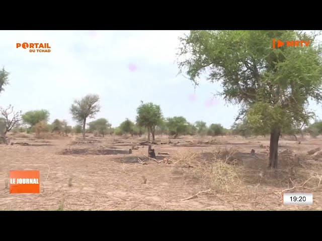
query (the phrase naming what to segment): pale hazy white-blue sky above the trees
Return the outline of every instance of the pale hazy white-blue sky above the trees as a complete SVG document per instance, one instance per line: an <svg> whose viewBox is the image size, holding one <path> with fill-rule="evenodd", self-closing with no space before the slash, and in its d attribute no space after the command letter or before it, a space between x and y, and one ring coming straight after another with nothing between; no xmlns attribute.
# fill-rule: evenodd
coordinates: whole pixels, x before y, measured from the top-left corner
<svg viewBox="0 0 322 241"><path fill-rule="evenodd" d="M0 67L10 84L0 106L23 112L47 109L49 122L75 125L69 108L87 94L100 96L101 111L117 127L135 121L140 101L159 104L165 117L220 123L230 128L238 106L213 98L219 83L193 83L178 75L179 37L188 31L0 31ZM30 53L17 43L48 43L50 53ZM319 106L310 108L322 117ZM95 118L95 119L96 119ZM89 119L93 121L94 119ZM89 122L88 121L88 122Z"/></svg>

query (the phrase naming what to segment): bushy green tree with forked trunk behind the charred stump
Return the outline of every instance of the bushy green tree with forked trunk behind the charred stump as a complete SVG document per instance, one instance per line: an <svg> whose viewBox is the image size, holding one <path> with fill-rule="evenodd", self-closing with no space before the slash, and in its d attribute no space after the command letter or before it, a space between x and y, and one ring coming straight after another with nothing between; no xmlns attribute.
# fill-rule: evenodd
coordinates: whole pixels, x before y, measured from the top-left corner
<svg viewBox="0 0 322 241"><path fill-rule="evenodd" d="M162 122L162 111L159 105L152 102L143 103L136 109L136 123L141 127L147 128L147 140L150 141L150 133L152 134L152 140L155 140L155 127Z"/></svg>

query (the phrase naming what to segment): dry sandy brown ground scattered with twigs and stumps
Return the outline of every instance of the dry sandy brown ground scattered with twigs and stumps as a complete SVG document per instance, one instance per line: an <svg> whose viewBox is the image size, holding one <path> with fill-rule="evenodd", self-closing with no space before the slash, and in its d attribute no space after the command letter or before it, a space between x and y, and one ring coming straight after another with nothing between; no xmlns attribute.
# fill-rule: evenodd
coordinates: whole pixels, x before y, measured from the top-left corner
<svg viewBox="0 0 322 241"><path fill-rule="evenodd" d="M306 154L322 148L320 138L305 137L301 144L281 139L279 150L289 151L280 154L279 169L273 171L267 168L266 149L260 148L269 144L268 137L218 137L208 144L213 138L180 137L154 146L156 154L170 153L157 154L160 163L144 164L138 158L146 159L147 146L132 154L128 150L142 147L138 143L145 137L88 138L88 144L74 136L13 137L12 142L29 145L0 145L0 210L322 209L322 159ZM163 161L166 157L170 162ZM10 194L9 170L32 169L40 170L41 193ZM285 189L313 193L313 205L282 206Z"/></svg>

